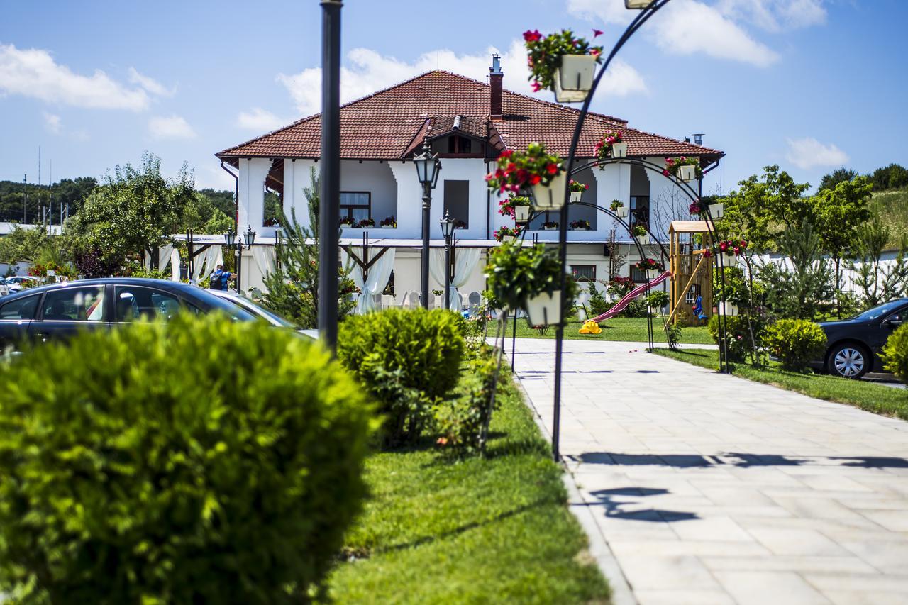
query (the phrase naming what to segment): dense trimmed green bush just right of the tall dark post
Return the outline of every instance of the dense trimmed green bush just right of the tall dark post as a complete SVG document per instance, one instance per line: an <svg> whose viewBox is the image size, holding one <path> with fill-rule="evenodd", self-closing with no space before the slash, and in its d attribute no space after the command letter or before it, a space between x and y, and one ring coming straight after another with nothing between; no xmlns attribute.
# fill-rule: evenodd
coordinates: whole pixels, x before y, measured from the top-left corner
<svg viewBox="0 0 908 605"><path fill-rule="evenodd" d="M341 323L338 358L379 400L386 443L417 440L432 406L457 384L463 322L442 309L387 309Z"/></svg>

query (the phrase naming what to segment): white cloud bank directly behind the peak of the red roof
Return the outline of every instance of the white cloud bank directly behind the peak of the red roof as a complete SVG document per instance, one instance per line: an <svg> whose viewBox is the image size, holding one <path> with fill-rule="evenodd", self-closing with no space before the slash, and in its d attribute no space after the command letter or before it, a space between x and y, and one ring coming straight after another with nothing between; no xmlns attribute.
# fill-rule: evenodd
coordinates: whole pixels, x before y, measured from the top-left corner
<svg viewBox="0 0 908 605"><path fill-rule="evenodd" d="M489 47L477 55L457 55L448 49L439 49L420 55L413 63L407 63L393 56L380 55L369 48L354 48L347 55L352 66L341 69L341 103L354 101L434 69L482 81L489 74L492 53L499 53L498 49ZM505 73L505 88L546 100L551 98L550 92L534 94L530 89L527 52L521 41L513 41L507 52L499 54ZM320 68L311 67L299 74L278 74L277 80L290 91L301 114L311 115L320 111ZM604 95L623 96L646 92L643 76L631 65L620 61L612 64L603 84L601 90Z"/></svg>

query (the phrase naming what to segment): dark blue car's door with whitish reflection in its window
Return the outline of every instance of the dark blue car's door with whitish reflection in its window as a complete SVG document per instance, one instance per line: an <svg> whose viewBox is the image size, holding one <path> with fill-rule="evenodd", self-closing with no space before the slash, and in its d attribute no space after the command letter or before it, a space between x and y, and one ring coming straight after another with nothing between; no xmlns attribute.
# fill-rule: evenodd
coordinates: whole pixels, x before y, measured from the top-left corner
<svg viewBox="0 0 908 605"><path fill-rule="evenodd" d="M57 288L44 293L28 332L38 342L66 340L82 330L106 329L106 311L103 285Z"/></svg>

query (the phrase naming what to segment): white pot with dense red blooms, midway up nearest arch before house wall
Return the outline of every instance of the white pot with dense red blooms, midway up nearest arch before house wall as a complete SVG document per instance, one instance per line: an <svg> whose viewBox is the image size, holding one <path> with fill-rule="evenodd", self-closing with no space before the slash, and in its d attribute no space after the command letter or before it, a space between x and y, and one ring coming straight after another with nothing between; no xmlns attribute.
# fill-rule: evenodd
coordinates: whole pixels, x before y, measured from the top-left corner
<svg viewBox="0 0 908 605"><path fill-rule="evenodd" d="M558 209L564 205L568 178L558 155L546 153L540 143L530 143L526 152L505 151L498 156L498 168L486 174L489 189L498 193L531 192L537 208Z"/></svg>

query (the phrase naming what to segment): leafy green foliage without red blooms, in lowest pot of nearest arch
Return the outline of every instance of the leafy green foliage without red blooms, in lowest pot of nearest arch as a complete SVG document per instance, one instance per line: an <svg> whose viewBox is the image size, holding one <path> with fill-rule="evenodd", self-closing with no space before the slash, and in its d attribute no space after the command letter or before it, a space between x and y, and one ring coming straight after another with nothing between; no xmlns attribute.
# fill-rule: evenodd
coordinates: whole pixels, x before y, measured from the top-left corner
<svg viewBox="0 0 908 605"><path fill-rule="evenodd" d="M498 302L516 310L524 308L530 298L560 290L561 273L554 248L541 243L532 247L504 243L489 253L486 283ZM566 302L573 302L576 295L577 283L568 279Z"/></svg>

